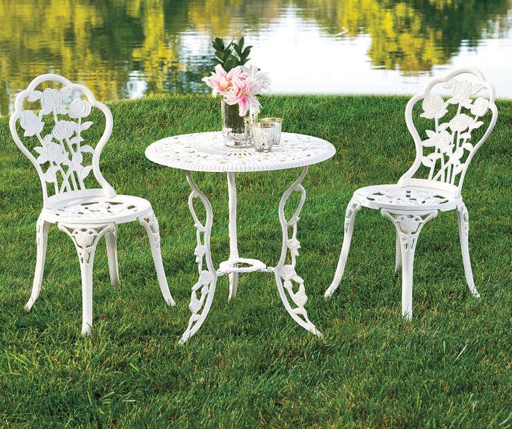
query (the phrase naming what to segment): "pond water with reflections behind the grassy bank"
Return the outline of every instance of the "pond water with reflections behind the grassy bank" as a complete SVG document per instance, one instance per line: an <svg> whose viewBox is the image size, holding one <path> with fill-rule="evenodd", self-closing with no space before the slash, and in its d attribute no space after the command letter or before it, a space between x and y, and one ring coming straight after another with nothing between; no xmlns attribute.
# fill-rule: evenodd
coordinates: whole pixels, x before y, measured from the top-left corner
<svg viewBox="0 0 512 429"><path fill-rule="evenodd" d="M244 34L274 93L414 93L480 68L512 98L512 0L0 0L0 114L44 72L100 100L208 92L215 36Z"/></svg>

